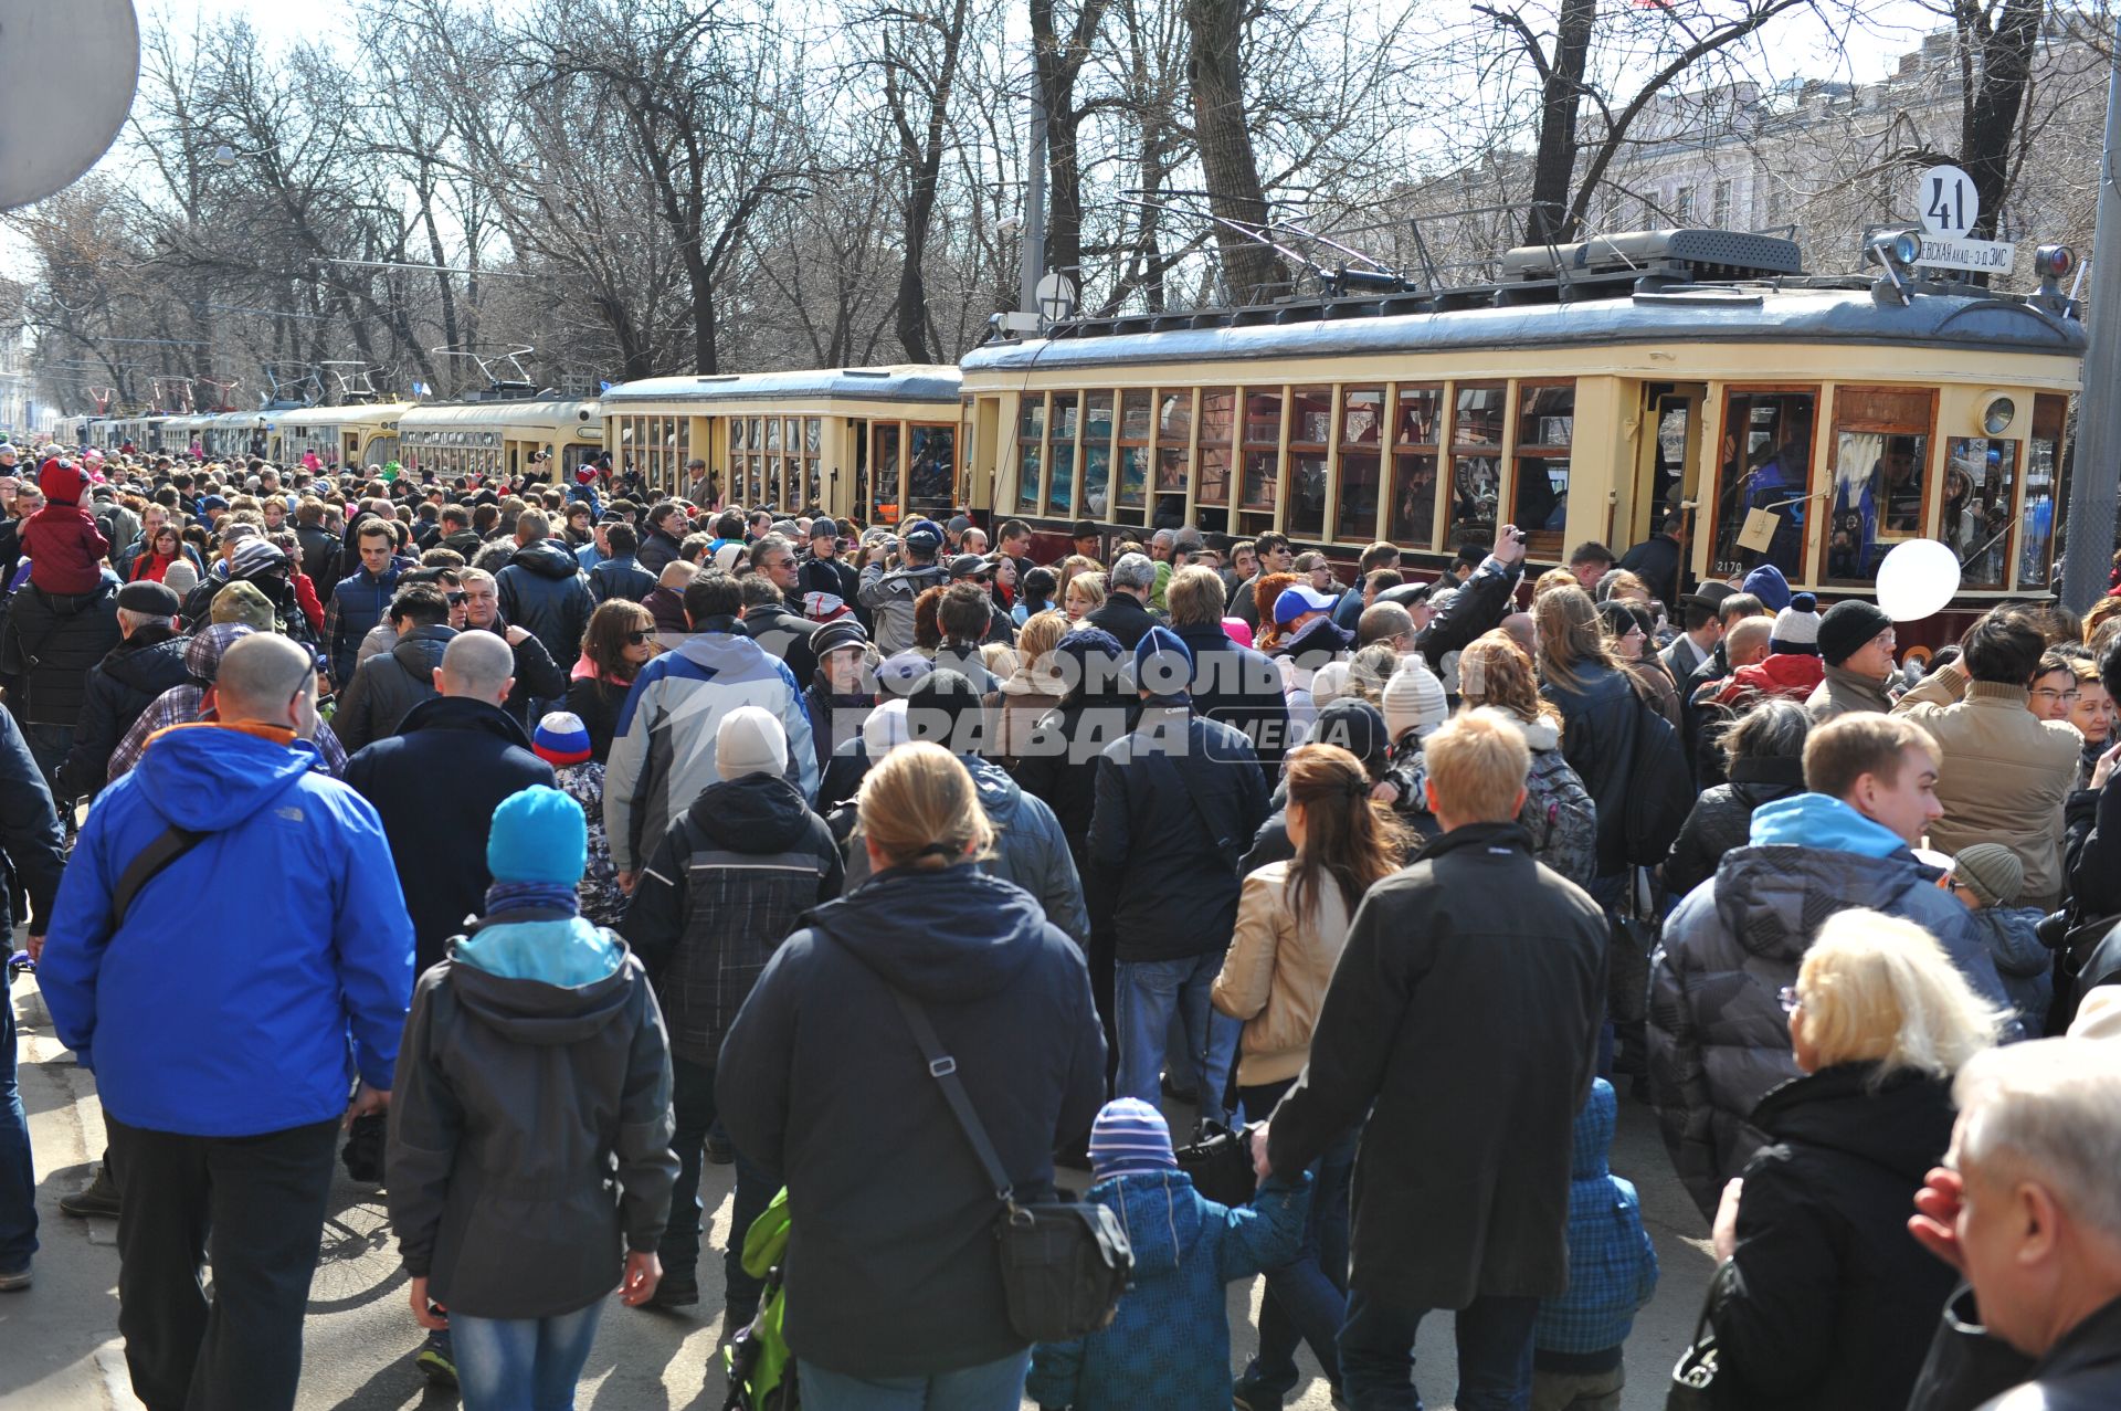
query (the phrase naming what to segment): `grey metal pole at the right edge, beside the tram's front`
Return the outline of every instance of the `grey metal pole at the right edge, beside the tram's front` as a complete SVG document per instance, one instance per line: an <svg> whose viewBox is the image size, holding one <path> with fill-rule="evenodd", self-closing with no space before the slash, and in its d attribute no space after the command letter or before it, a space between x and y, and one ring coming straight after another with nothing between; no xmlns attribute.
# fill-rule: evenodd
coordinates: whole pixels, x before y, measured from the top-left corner
<svg viewBox="0 0 2121 1411"><path fill-rule="evenodd" d="M2117 25L2121 36L2121 25ZM2106 592L2121 486L2121 47L2106 76L2106 151L2091 236L2089 346L2076 399L2076 465L2062 554L2062 603L2085 611ZM2059 469L2059 467L2057 467Z"/></svg>

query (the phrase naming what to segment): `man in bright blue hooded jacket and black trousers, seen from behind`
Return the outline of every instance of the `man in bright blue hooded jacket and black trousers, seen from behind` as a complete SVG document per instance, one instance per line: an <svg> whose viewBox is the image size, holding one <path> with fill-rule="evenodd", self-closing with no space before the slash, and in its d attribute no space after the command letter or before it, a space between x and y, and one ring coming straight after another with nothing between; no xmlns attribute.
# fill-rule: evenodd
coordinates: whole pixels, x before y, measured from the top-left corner
<svg viewBox="0 0 2121 1411"><path fill-rule="evenodd" d="M375 811L316 768L310 654L246 637L214 694L216 721L155 734L95 800L38 982L125 1188L134 1392L276 1409L295 1405L339 1122L390 1101L411 921Z"/></svg>

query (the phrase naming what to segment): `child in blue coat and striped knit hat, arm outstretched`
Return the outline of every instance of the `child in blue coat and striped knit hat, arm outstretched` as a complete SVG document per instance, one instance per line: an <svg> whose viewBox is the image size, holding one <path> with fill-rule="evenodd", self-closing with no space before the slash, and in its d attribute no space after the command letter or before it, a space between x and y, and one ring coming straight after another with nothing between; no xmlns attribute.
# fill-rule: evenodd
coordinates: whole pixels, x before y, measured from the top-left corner
<svg viewBox="0 0 2121 1411"><path fill-rule="evenodd" d="M1245 1209L1192 1188L1171 1129L1145 1101L1105 1103L1090 1129L1090 1199L1109 1205L1135 1248L1135 1282L1111 1326L1039 1343L1024 1392L1056 1411L1220 1411L1230 1405L1226 1286L1296 1258L1309 1173L1268 1180Z"/></svg>

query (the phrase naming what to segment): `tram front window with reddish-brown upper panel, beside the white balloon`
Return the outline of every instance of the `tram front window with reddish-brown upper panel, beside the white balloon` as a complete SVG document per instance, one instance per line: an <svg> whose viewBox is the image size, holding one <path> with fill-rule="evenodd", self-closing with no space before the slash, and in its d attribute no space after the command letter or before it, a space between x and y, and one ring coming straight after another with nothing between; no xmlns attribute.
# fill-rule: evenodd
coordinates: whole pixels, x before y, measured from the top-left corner
<svg viewBox="0 0 2121 1411"><path fill-rule="evenodd" d="M1922 537L1934 405L1926 388L1835 395L1824 581L1871 583L1888 552Z"/></svg>

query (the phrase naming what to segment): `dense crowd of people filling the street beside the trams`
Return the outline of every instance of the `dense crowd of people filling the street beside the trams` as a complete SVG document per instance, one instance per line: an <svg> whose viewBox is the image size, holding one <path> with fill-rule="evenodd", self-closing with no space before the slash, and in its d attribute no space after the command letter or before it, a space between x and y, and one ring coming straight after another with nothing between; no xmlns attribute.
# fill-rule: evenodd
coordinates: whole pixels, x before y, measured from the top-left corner
<svg viewBox="0 0 2121 1411"><path fill-rule="evenodd" d="M1300 1349L1419 1407L1436 1311L1461 1411L1616 1411L1623 1103L1718 1260L1701 1405L2121 1405L2121 596L1903 656L1682 594L1684 522L1343 583L685 490L0 446L0 851L151 1409L295 1405L344 1161L473 1411L573 1405L613 1292L817 1411L1279 1411ZM988 1163L1090 1173L1103 1326L1018 1332Z"/></svg>

